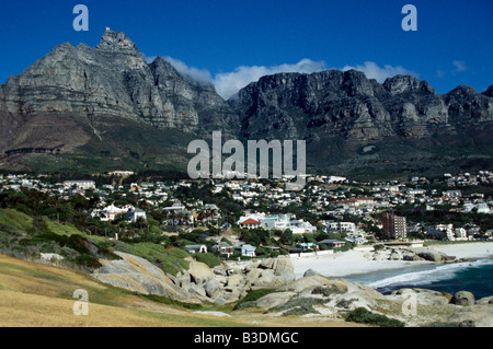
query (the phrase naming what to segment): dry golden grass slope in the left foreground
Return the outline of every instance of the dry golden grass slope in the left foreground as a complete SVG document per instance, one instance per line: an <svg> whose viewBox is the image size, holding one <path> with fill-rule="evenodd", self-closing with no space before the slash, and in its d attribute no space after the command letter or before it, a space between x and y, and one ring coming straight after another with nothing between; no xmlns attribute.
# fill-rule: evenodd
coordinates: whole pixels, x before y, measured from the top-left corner
<svg viewBox="0 0 493 349"><path fill-rule="evenodd" d="M77 289L89 294L89 315L74 315ZM204 307L204 310L214 310ZM347 327L324 318L236 312L231 317L152 302L67 269L0 254L0 327Z"/></svg>

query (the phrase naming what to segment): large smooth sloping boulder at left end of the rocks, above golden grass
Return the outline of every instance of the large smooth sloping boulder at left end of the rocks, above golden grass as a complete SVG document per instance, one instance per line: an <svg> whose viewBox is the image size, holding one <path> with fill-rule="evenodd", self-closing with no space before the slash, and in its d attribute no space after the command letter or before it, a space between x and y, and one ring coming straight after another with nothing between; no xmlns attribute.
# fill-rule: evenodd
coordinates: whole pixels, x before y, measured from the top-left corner
<svg viewBox="0 0 493 349"><path fill-rule="evenodd" d="M115 254L122 259L100 259L102 267L94 270L93 278L131 292L163 295L186 303L199 303L196 296L175 284L150 261L121 252L115 252Z"/></svg>

